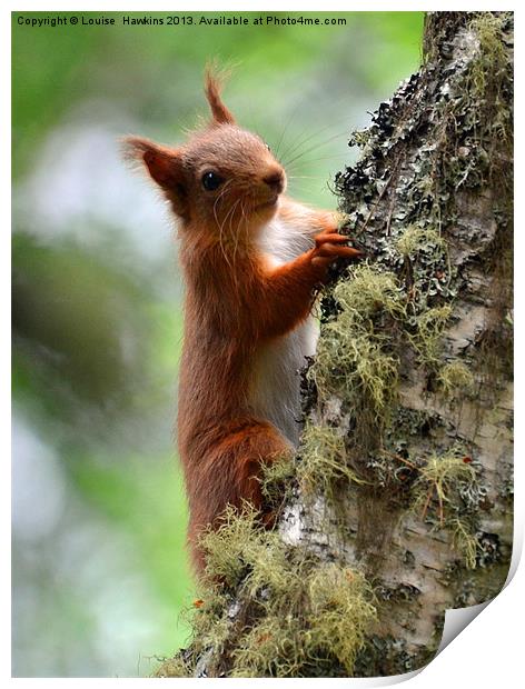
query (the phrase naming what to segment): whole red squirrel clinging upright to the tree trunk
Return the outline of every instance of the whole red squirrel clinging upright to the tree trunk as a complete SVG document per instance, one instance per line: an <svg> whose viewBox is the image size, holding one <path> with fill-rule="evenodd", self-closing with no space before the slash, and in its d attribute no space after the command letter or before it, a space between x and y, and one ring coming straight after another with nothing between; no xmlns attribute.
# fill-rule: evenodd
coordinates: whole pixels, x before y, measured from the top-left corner
<svg viewBox="0 0 525 689"><path fill-rule="evenodd" d="M334 213L285 196L285 170L236 123L210 70L205 91L211 120L182 146L126 140L178 220L186 298L177 430L197 573L202 529L220 523L228 503L262 510L261 465L296 446L316 290L335 259L360 254Z"/></svg>

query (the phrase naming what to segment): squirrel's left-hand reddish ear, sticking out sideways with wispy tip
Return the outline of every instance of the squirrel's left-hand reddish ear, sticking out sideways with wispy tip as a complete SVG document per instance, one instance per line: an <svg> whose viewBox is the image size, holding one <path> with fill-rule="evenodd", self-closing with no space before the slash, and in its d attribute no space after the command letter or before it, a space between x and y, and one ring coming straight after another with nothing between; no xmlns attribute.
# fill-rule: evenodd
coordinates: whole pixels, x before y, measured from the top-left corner
<svg viewBox="0 0 525 689"><path fill-rule="evenodd" d="M138 160L146 166L151 178L171 201L176 213L187 213L186 184L177 150L141 137L127 137L123 139L123 154L127 160Z"/></svg>

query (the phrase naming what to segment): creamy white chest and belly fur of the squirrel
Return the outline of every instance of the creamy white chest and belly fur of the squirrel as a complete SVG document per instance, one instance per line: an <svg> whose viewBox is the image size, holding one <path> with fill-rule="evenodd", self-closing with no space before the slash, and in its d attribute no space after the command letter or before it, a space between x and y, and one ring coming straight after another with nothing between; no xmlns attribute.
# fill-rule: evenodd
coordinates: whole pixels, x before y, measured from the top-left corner
<svg viewBox="0 0 525 689"><path fill-rule="evenodd" d="M275 264L293 260L313 246L305 224L273 220L260 238L260 248ZM309 317L293 332L265 346L258 353L250 403L261 418L274 423L296 446L299 440L300 377L305 357L316 350L318 327Z"/></svg>

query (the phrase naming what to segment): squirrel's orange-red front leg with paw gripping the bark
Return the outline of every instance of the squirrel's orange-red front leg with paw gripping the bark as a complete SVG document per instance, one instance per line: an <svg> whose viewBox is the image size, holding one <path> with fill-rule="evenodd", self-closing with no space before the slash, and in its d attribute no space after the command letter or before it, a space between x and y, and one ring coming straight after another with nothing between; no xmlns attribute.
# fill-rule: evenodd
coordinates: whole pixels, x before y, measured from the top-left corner
<svg viewBox="0 0 525 689"><path fill-rule="evenodd" d="M315 237L315 247L266 276L257 320L262 339L286 334L307 318L314 290L326 280L337 258L356 259L361 252L345 246L348 237L331 230Z"/></svg>

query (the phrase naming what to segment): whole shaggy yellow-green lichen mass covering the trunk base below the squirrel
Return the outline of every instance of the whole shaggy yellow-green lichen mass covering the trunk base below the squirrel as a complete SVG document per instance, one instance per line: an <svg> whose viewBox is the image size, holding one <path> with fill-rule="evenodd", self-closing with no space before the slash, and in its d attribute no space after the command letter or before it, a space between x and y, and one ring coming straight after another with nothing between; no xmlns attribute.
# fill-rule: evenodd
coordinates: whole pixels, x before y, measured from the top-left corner
<svg viewBox="0 0 525 689"><path fill-rule="evenodd" d="M228 508L201 539L207 557L192 613L191 653L165 662L158 676L308 677L313 668L353 673L376 620L364 576L283 542L259 527L249 506ZM228 593L235 588L235 599ZM249 611L250 623L245 619Z"/></svg>

